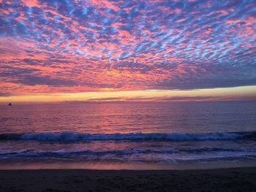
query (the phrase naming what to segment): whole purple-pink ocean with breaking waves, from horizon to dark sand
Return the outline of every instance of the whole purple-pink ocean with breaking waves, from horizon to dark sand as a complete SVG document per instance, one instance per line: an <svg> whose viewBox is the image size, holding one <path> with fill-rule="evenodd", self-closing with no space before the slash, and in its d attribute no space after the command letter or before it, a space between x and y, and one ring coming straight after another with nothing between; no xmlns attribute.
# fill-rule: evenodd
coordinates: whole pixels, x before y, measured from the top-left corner
<svg viewBox="0 0 256 192"><path fill-rule="evenodd" d="M0 169L256 164L256 102L0 105Z"/></svg>

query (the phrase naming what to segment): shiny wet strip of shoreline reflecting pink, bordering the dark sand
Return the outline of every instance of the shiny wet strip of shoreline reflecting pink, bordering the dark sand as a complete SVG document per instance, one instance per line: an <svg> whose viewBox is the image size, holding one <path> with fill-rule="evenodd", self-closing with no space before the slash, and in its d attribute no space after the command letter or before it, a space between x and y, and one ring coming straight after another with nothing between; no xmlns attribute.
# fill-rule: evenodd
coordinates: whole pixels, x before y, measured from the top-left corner
<svg viewBox="0 0 256 192"><path fill-rule="evenodd" d="M21 163L22 162L22 163ZM255 167L255 161L222 162L222 163L193 163L193 164L163 164L163 163L132 163L111 161L74 161L74 162L42 162L42 161L0 161L1 170L206 170L206 169L236 169Z"/></svg>

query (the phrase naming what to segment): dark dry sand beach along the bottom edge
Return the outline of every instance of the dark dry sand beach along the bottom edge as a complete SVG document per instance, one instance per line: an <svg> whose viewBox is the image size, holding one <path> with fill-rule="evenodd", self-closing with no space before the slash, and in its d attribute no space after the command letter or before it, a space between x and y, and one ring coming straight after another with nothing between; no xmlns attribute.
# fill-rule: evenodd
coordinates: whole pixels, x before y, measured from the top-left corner
<svg viewBox="0 0 256 192"><path fill-rule="evenodd" d="M1 170L0 191L256 191L256 167L209 170Z"/></svg>

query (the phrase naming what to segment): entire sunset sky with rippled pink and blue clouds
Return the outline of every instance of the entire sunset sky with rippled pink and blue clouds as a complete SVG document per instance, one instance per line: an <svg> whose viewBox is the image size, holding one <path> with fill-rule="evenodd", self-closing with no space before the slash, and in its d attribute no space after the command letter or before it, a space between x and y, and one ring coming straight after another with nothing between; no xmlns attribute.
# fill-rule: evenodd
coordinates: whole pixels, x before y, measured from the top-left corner
<svg viewBox="0 0 256 192"><path fill-rule="evenodd" d="M0 0L0 102L256 100L254 0Z"/></svg>

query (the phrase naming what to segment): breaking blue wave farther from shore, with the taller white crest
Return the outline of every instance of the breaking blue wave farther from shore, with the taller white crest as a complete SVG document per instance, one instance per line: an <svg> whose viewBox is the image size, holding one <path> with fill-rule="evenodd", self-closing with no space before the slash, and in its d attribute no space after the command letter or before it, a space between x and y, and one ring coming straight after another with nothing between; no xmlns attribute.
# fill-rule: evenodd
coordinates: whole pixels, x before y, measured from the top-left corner
<svg viewBox="0 0 256 192"><path fill-rule="evenodd" d="M224 139L255 139L256 132L208 133L208 134L80 134L70 131L60 133L1 134L0 139L20 139L38 141L80 141L80 140L224 140Z"/></svg>

